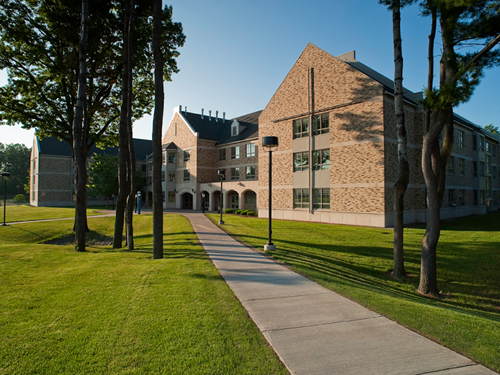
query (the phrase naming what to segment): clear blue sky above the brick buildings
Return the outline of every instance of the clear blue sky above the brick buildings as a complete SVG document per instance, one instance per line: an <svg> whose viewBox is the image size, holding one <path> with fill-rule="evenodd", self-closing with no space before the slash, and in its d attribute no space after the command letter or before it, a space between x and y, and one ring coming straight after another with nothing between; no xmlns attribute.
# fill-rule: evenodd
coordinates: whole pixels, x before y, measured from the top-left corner
<svg viewBox="0 0 500 375"><path fill-rule="evenodd" d="M165 2L164 2L165 3ZM172 1L186 35L181 72L165 83L164 127L175 106L238 117L265 108L308 42L333 56L356 50L356 59L393 78L392 14L376 0ZM414 92L427 81L430 19L417 6L403 9L403 85ZM436 47L435 54L440 53ZM0 85L6 83L0 72ZM436 81L437 83L437 81ZM500 125L500 68L485 73L456 113L485 126ZM134 124L134 137L151 139L151 116ZM31 147L33 132L0 126L0 142Z"/></svg>

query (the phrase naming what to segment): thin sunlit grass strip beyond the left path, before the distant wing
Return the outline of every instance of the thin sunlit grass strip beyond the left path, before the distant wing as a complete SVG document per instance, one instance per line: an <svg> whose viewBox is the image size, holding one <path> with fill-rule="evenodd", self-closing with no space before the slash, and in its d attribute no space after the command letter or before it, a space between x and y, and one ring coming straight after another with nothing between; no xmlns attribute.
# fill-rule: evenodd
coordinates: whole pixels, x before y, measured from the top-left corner
<svg viewBox="0 0 500 375"><path fill-rule="evenodd" d="M3 223L3 202L0 210ZM94 208L87 209L87 215L102 215ZM29 222L30 220L64 219L74 217L74 207L35 207L27 204L7 205L6 223Z"/></svg>

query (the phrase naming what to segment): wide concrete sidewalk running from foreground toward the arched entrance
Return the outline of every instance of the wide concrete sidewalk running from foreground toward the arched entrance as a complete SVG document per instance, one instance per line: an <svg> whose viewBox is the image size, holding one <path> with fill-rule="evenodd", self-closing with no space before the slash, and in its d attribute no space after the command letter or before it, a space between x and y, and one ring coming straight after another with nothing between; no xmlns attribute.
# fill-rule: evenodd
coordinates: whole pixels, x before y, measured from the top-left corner
<svg viewBox="0 0 500 375"><path fill-rule="evenodd" d="M291 374L496 374L182 215Z"/></svg>

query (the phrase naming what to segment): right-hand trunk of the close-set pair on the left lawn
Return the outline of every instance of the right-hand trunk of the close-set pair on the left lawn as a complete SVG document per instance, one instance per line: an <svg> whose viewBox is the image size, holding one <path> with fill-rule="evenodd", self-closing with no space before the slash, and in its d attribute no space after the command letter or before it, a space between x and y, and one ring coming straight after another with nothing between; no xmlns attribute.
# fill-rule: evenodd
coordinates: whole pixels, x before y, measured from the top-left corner
<svg viewBox="0 0 500 375"><path fill-rule="evenodd" d="M128 9L127 9L128 8ZM133 209L135 205L135 151L133 145L133 134L132 134L132 35L133 35L133 22L134 22L134 1L126 1L126 12L128 12L128 30L126 33L126 39L128 40L126 49L126 61L124 64L124 69L128 69L127 74L127 100L126 100L126 124L127 124L127 135L128 135L128 186L130 190L128 191L128 198L126 203L126 228L127 228L127 248L132 251L134 249L133 242Z"/></svg>

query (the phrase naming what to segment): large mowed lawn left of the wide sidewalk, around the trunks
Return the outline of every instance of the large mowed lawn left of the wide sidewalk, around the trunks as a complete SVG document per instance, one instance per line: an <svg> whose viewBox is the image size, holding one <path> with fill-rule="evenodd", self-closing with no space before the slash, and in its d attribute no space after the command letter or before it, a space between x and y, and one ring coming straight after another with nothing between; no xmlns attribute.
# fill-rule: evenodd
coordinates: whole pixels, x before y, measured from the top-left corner
<svg viewBox="0 0 500 375"><path fill-rule="evenodd" d="M0 374L288 374L210 263L187 219L151 215L135 251L44 243L72 221L0 226ZM114 218L89 219L109 239Z"/></svg>

